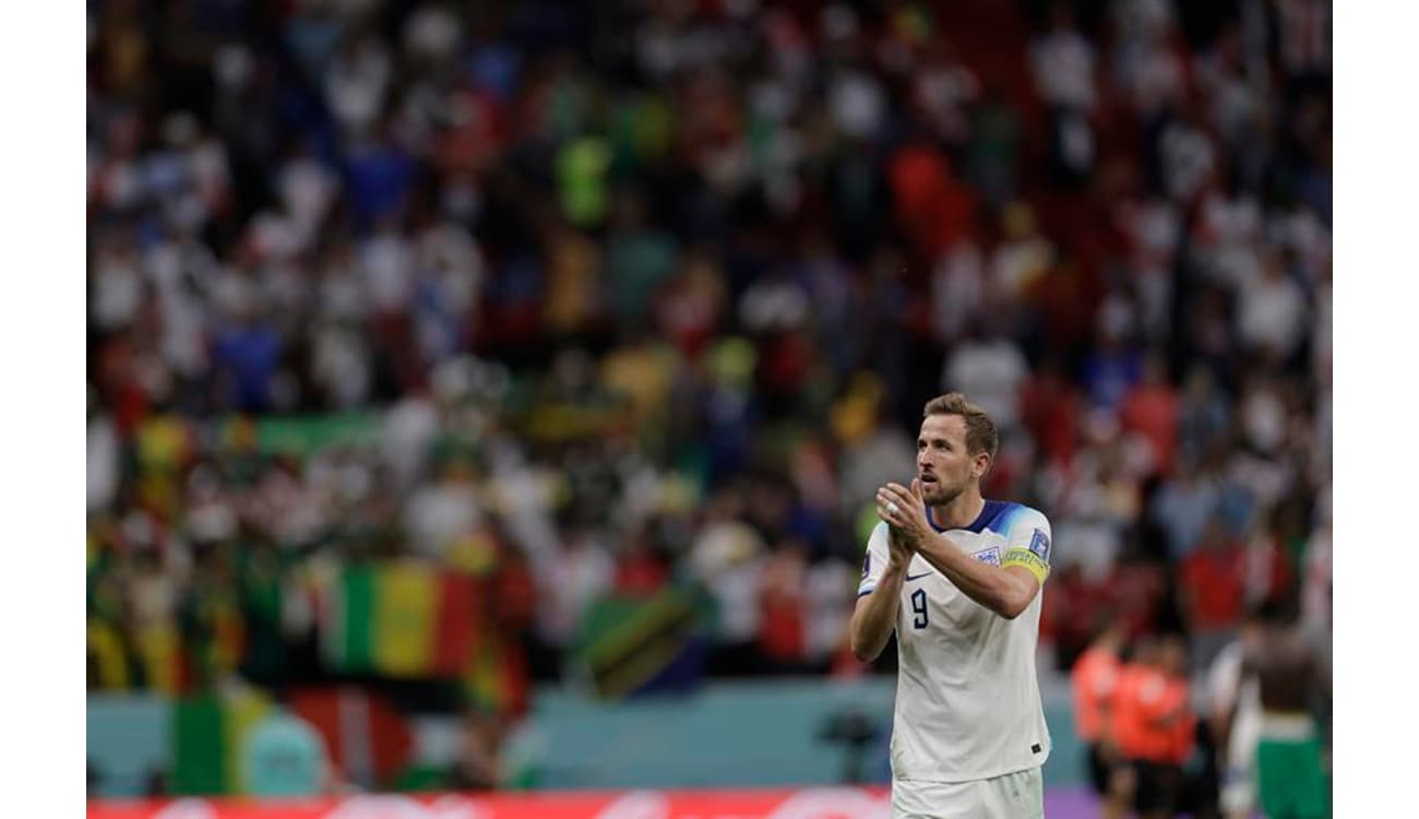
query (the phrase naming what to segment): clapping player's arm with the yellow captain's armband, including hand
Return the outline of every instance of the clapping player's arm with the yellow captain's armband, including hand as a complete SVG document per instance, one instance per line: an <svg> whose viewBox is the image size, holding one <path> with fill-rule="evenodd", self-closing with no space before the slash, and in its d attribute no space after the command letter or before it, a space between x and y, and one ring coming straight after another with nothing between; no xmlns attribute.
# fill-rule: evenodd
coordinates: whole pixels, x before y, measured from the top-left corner
<svg viewBox="0 0 1419 819"><path fill-rule="evenodd" d="M1010 620L1030 608L1049 573L1049 564L1046 558L1030 552L1027 544L1015 544L1013 532L1002 565L992 566L972 558L931 528L918 481L912 481L911 490L895 483L887 484L877 497L880 507L897 504L897 514L888 522L901 528L908 546L914 546L917 554L968 598Z"/></svg>

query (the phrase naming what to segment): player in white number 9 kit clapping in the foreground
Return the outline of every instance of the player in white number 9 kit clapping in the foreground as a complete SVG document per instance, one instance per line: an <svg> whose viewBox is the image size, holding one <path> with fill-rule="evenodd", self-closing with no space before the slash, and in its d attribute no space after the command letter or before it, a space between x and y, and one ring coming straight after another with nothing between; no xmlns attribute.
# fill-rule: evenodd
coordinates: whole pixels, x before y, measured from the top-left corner
<svg viewBox="0 0 1419 819"><path fill-rule="evenodd" d="M893 816L1044 815L1050 754L1034 649L1050 522L981 497L999 434L959 393L927 403L911 488L877 493L851 619L871 661L897 633Z"/></svg>

